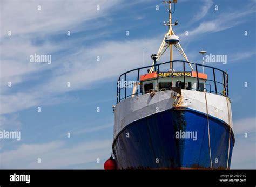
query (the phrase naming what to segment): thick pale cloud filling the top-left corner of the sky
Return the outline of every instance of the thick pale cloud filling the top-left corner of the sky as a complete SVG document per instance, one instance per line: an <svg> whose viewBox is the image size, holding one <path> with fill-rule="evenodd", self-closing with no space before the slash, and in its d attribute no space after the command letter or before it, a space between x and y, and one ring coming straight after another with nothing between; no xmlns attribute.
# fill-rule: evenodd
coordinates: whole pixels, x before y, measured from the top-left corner
<svg viewBox="0 0 256 187"><path fill-rule="evenodd" d="M1 1L1 34L7 35L8 31L13 35L72 31L83 21L104 17L107 10L117 3L118 0ZM100 10L97 10L97 5Z"/></svg>

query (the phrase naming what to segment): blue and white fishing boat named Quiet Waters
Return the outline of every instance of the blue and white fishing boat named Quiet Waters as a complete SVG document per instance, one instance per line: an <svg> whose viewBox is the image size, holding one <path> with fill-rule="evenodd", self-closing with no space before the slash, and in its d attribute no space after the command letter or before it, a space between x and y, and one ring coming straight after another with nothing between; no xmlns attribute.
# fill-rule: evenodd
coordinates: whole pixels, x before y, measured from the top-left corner
<svg viewBox="0 0 256 187"><path fill-rule="evenodd" d="M129 70L117 81L112 154L105 169L230 169L235 138L228 74L192 63L168 31L152 65ZM173 48L184 58L173 60ZM169 49L169 50L168 50ZM160 62L169 51L170 61Z"/></svg>

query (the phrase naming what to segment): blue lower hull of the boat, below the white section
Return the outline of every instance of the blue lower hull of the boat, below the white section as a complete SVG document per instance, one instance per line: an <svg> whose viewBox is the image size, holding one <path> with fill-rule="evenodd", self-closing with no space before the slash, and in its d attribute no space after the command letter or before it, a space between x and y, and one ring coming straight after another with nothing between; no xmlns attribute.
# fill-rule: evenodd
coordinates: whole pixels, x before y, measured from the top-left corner
<svg viewBox="0 0 256 187"><path fill-rule="evenodd" d="M209 117L213 169L230 168L234 135L224 121ZM197 137L177 136L194 132ZM127 134L129 133L129 134ZM127 137L129 135L129 138ZM113 142L118 169L211 169L207 115L190 109L168 110L127 125Z"/></svg>

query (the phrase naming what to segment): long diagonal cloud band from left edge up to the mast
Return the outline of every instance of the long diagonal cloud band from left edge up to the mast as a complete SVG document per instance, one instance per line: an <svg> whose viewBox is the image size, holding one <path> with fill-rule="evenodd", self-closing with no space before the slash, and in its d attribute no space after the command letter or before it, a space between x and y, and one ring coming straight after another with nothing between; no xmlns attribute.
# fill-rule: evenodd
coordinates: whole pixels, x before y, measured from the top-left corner
<svg viewBox="0 0 256 187"><path fill-rule="evenodd" d="M62 58L62 63L56 66L57 73L48 77L51 79L50 82L41 82L36 87L18 93L2 94L1 113L28 109L45 103L49 97L55 97L69 91L86 89L92 82L116 78L127 69L142 66L141 49L145 46L147 46L145 61L151 62L150 52L156 51L157 38L122 42L108 41L90 49L82 48L78 52ZM98 50L99 47L101 48L100 51ZM96 61L97 56L100 56L101 60L99 62ZM120 59L122 60L120 61ZM138 62L141 62L141 64L138 64ZM111 69L114 69L114 71L103 73ZM71 83L71 87L67 87L67 82Z"/></svg>

